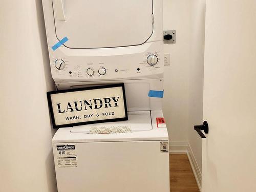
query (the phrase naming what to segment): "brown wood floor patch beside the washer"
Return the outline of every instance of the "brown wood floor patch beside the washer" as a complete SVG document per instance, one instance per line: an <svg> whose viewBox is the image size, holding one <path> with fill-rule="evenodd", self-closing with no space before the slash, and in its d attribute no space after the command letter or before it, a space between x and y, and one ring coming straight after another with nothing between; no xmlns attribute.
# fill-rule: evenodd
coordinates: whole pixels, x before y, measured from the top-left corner
<svg viewBox="0 0 256 192"><path fill-rule="evenodd" d="M170 191L199 192L186 154L170 154Z"/></svg>

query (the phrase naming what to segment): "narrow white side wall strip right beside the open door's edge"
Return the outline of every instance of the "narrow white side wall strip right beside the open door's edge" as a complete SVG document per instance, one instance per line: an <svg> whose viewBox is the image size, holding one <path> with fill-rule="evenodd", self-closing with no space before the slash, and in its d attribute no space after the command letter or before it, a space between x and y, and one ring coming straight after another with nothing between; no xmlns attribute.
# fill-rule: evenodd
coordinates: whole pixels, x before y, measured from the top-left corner
<svg viewBox="0 0 256 192"><path fill-rule="evenodd" d="M188 93L188 142L202 172L202 139L194 125L203 122L203 76L204 76L204 32L205 0L194 0L191 7L191 46Z"/></svg>

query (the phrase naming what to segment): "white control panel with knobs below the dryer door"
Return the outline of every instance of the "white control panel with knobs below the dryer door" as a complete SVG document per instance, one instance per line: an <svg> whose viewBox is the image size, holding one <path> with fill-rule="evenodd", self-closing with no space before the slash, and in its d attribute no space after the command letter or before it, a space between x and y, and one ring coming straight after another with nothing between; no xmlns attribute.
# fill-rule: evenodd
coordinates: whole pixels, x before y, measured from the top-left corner
<svg viewBox="0 0 256 192"><path fill-rule="evenodd" d="M159 41L159 44L161 43ZM51 59L52 76L55 81L59 82L159 78L163 74L163 50L161 48L156 51L156 47L152 46L139 53L133 53L131 49L130 54L106 54L106 56L91 57L63 54L61 48L58 48L53 54L55 57Z"/></svg>

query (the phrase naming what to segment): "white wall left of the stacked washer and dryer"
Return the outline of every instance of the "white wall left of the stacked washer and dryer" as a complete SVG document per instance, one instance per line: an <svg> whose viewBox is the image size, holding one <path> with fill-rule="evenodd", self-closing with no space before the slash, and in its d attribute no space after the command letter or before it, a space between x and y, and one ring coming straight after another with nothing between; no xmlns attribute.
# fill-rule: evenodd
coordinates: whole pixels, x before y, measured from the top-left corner
<svg viewBox="0 0 256 192"><path fill-rule="evenodd" d="M56 191L41 1L1 1L0 191Z"/></svg>

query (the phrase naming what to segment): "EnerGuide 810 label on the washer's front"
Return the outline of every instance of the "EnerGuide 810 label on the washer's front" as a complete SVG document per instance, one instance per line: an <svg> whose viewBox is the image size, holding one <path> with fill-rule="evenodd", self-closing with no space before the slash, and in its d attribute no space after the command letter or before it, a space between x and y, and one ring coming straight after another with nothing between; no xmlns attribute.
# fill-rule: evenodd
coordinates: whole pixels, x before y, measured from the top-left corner
<svg viewBox="0 0 256 192"><path fill-rule="evenodd" d="M75 145L57 145L58 168L76 168L77 155Z"/></svg>

